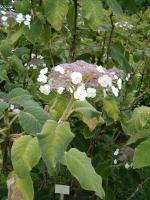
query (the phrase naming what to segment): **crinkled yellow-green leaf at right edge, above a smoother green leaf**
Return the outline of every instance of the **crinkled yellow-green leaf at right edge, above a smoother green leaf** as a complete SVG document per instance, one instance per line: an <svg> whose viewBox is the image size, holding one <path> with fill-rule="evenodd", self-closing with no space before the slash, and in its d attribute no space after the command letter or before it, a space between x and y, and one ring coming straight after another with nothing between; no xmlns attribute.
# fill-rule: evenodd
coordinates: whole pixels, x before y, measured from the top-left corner
<svg viewBox="0 0 150 200"><path fill-rule="evenodd" d="M150 108L141 106L135 108L129 120L122 119L124 132L130 136L128 144L136 142L140 138L150 137Z"/></svg>

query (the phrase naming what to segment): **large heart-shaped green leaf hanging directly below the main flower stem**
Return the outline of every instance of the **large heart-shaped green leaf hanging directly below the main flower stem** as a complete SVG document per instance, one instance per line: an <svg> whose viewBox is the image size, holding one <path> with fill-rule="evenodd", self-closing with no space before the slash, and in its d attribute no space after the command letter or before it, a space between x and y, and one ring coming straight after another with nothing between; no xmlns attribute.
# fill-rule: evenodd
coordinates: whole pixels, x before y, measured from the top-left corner
<svg viewBox="0 0 150 200"><path fill-rule="evenodd" d="M56 121L48 120L43 126L41 133L38 134L38 141L49 174L55 171L57 162L64 155L73 137L68 122L58 124Z"/></svg>

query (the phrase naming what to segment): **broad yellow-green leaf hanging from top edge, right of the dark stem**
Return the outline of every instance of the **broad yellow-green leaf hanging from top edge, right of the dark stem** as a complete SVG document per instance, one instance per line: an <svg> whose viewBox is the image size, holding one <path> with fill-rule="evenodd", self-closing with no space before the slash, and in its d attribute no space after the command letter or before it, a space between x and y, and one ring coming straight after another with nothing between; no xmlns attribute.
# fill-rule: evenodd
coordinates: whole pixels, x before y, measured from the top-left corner
<svg viewBox="0 0 150 200"><path fill-rule="evenodd" d="M103 16L102 3L100 0L82 0L82 15L89 26L97 30Z"/></svg>

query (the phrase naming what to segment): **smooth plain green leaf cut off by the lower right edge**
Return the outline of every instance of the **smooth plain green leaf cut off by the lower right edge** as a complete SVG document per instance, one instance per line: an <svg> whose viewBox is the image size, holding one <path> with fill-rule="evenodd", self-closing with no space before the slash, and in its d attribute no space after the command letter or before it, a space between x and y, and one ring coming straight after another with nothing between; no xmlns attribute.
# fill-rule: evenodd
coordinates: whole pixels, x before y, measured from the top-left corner
<svg viewBox="0 0 150 200"><path fill-rule="evenodd" d="M134 153L133 166L141 168L150 165L150 139L139 144Z"/></svg>

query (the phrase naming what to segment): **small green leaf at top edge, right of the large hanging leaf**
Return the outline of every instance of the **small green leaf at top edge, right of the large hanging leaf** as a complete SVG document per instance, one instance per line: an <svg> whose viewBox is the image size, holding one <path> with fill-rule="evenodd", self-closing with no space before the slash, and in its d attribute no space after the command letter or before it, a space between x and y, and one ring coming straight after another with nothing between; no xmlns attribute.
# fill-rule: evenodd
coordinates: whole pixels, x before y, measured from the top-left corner
<svg viewBox="0 0 150 200"><path fill-rule="evenodd" d="M107 0L107 4L116 15L123 14L123 10L117 0Z"/></svg>

